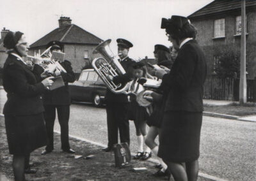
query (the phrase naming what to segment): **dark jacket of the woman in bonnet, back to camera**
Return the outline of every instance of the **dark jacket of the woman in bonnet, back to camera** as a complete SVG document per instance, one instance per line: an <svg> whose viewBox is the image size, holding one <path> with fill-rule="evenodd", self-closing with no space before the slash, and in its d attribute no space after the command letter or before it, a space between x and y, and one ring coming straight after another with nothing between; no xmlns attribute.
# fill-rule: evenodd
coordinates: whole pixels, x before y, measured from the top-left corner
<svg viewBox="0 0 256 181"><path fill-rule="evenodd" d="M202 112L205 76L204 52L190 40L180 48L170 73L163 76L159 89L168 95L164 110Z"/></svg>

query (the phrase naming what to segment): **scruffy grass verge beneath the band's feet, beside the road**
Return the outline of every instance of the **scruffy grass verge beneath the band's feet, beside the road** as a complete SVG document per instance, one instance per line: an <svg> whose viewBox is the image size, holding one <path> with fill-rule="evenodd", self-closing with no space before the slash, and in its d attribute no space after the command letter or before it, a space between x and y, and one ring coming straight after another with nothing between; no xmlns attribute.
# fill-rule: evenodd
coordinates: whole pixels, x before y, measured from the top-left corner
<svg viewBox="0 0 256 181"><path fill-rule="evenodd" d="M0 181L13 181L12 156L8 153L8 145L4 129L4 117L0 117ZM54 150L50 154L42 156L40 153L44 148L38 148L31 153L33 169L38 170L36 174L26 174L26 180L47 181L97 181L97 180L167 180L167 177L156 178L152 175L157 171L154 168L156 160L148 161L131 160L125 168L115 167L115 155L113 152L102 152L100 145L86 141L70 138L70 145L76 150L76 154L62 152L60 147L60 134L54 133ZM88 156L92 156L88 159ZM145 171L135 172L132 168L147 168ZM198 180L218 180L205 173L199 173ZM173 178L172 178L173 181Z"/></svg>

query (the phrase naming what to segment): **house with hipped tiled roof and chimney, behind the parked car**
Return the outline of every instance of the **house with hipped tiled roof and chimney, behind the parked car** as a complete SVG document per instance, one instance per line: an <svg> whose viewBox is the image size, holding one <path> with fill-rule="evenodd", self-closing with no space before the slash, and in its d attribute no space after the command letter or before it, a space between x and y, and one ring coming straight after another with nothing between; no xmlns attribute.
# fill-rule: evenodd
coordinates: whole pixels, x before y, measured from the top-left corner
<svg viewBox="0 0 256 181"><path fill-rule="evenodd" d="M72 20L69 17L60 17L58 21L59 27L32 43L28 54L42 54L49 41L61 41L64 45L65 59L72 63L75 73L80 73L84 66L90 66L93 58L100 56L93 55L92 52L102 40L81 27L71 24Z"/></svg>

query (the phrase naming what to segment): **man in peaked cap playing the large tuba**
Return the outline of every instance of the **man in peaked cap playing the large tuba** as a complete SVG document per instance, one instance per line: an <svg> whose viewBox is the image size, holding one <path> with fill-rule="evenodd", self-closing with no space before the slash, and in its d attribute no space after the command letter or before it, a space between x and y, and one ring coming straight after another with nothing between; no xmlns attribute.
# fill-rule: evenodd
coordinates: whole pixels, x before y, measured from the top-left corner
<svg viewBox="0 0 256 181"><path fill-rule="evenodd" d="M133 47L130 41L118 38L119 62L125 69L126 73L119 76L109 76L108 79L115 83L127 83L132 80L134 61L128 57L129 48ZM118 130L120 133L121 143L130 143L128 108L129 102L127 95L114 94L109 89L106 92L106 111L108 122L108 147L102 149L105 152L113 150L113 145L118 143Z"/></svg>

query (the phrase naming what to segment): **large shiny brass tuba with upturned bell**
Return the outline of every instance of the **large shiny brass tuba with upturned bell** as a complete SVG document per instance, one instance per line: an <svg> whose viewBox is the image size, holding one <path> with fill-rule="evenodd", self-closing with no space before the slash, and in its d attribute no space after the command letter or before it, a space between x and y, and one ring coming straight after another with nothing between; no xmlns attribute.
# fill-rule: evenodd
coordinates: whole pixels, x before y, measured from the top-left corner
<svg viewBox="0 0 256 181"><path fill-rule="evenodd" d="M93 54L100 53L104 56L95 58L92 61L93 69L97 72L97 74L100 76L102 81L106 83L106 86L108 89L111 90L111 92L114 92L115 94L127 94L127 90L129 88L128 83L114 83L112 81L109 81L107 76L118 76L118 75L124 75L125 69L122 67L118 59L116 59L116 56L113 54L111 49L109 48L109 43L111 40L106 40L100 45L98 45L95 50L93 50Z"/></svg>

